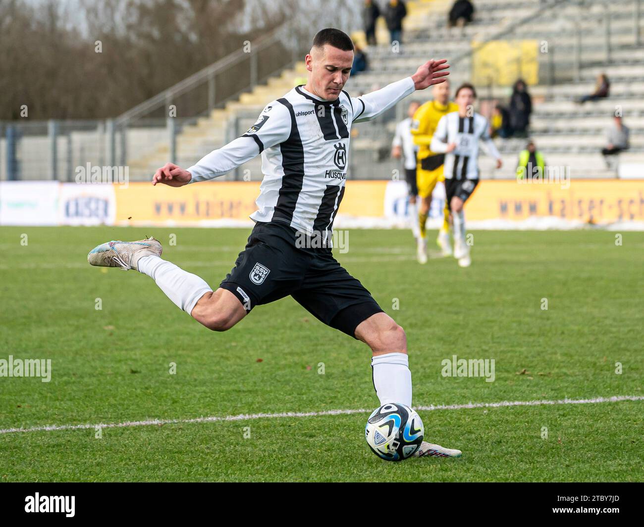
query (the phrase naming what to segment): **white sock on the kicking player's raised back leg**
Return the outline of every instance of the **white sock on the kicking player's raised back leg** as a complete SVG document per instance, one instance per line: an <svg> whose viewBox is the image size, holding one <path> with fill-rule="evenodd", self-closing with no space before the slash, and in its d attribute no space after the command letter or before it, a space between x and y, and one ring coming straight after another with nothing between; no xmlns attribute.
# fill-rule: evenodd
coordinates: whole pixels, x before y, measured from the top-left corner
<svg viewBox="0 0 644 527"><path fill-rule="evenodd" d="M197 300L213 291L204 279L155 255L142 257L137 267L138 272L151 277L166 296L188 315Z"/></svg>

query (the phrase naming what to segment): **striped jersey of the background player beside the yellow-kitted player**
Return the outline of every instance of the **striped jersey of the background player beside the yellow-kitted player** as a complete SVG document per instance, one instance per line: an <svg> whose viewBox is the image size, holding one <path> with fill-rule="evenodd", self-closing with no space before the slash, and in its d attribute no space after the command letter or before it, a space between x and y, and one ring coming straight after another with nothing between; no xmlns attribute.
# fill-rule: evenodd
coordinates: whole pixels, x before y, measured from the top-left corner
<svg viewBox="0 0 644 527"><path fill-rule="evenodd" d="M450 143L456 143L456 148L445 154L443 172L446 179L478 179L479 140L484 142L484 149L490 156L501 157L489 136L488 120L480 113L461 117L459 112L453 111L440 118L431 138L431 151L443 153Z"/></svg>

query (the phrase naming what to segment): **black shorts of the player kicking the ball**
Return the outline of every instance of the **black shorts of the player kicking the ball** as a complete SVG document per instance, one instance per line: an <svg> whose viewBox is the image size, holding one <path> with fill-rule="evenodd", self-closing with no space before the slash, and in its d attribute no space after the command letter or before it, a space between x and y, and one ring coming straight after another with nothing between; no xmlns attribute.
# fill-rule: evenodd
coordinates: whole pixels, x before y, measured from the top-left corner
<svg viewBox="0 0 644 527"><path fill-rule="evenodd" d="M383 311L330 248L300 248L296 230L275 222L256 223L220 287L247 311L290 295L327 326L354 338L358 324Z"/></svg>

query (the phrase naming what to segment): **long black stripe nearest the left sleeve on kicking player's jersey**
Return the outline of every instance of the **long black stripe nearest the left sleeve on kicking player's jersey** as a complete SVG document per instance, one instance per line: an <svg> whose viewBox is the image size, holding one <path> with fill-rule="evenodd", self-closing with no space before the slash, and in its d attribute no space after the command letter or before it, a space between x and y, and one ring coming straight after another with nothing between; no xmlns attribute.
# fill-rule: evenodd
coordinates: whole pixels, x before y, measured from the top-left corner
<svg viewBox="0 0 644 527"><path fill-rule="evenodd" d="M290 224L293 221L295 206L298 203L299 193L304 183L304 147L299 136L298 122L295 118L292 104L285 98L278 99L278 102L289 110L290 134L285 142L279 144L284 176L273 218Z"/></svg>

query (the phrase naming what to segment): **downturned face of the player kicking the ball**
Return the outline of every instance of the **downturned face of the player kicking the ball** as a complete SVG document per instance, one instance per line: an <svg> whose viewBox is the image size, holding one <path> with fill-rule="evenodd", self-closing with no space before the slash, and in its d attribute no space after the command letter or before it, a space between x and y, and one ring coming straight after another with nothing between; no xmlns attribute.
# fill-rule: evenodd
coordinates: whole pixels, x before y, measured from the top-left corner
<svg viewBox="0 0 644 527"><path fill-rule="evenodd" d="M310 57L310 60L309 60ZM354 52L343 51L328 44L323 50L313 48L307 55L310 84L318 97L336 100L344 88L354 64Z"/></svg>

